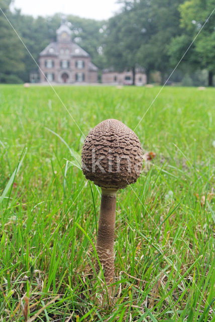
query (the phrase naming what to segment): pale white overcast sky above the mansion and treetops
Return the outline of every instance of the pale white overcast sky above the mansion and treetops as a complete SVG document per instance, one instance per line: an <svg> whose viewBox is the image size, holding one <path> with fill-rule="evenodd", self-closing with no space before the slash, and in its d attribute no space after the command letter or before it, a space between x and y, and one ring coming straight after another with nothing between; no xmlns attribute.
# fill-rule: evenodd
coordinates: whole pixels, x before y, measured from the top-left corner
<svg viewBox="0 0 215 322"><path fill-rule="evenodd" d="M108 19L120 8L117 0L15 0L13 7L34 17L55 13L71 14L96 20Z"/></svg>

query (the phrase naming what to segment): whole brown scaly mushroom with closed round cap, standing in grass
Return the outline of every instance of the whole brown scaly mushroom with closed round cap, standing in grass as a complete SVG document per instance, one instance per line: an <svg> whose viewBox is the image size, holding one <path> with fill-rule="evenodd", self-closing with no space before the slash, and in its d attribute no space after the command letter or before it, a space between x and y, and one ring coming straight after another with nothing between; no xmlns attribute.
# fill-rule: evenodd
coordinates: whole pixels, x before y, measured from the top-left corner
<svg viewBox="0 0 215 322"><path fill-rule="evenodd" d="M107 119L86 136L81 161L86 179L101 187L96 252L105 283L110 286L114 281L117 191L137 181L143 165L143 150L139 138L129 127L118 120ZM95 270L98 274L98 263Z"/></svg>

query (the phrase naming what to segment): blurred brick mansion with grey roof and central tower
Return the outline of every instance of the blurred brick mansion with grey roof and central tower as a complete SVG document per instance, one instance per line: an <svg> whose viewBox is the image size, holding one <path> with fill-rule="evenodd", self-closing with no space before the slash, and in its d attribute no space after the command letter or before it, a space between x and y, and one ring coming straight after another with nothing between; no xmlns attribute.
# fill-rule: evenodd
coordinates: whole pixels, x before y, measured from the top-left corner
<svg viewBox="0 0 215 322"><path fill-rule="evenodd" d="M51 42L40 53L40 82L97 83L98 68L89 54L71 40L66 22L57 29L57 41Z"/></svg>

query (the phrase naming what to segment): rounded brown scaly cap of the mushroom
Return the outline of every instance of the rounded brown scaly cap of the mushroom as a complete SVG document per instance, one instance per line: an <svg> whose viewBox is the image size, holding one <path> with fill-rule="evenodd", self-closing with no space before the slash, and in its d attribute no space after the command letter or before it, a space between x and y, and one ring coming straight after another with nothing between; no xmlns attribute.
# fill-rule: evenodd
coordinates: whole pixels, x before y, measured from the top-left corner
<svg viewBox="0 0 215 322"><path fill-rule="evenodd" d="M86 136L81 152L86 179L106 189L124 189L135 183L143 166L137 135L125 124L107 119Z"/></svg>

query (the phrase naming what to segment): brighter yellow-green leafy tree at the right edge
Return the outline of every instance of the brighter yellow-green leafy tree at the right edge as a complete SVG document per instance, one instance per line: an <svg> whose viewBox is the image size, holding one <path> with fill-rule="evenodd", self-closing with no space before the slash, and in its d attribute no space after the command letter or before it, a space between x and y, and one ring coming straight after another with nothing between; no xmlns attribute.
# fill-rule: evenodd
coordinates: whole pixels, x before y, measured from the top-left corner
<svg viewBox="0 0 215 322"><path fill-rule="evenodd" d="M214 9L214 0L189 0L179 7L182 34L174 38L170 45L172 60L182 55L202 28ZM184 66L190 69L205 68L208 71L208 86L213 85L215 73L215 29L214 16L205 23L189 52L183 59Z"/></svg>

